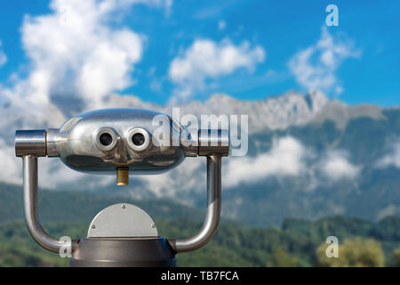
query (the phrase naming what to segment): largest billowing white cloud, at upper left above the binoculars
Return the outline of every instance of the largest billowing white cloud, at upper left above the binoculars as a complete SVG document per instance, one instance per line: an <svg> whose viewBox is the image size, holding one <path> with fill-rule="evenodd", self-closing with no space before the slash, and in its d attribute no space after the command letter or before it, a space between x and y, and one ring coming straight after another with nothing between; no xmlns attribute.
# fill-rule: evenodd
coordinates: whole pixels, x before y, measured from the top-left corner
<svg viewBox="0 0 400 285"><path fill-rule="evenodd" d="M112 28L112 21L136 3L168 7L172 2L53 0L51 13L26 16L21 33L30 72L3 96L8 93L9 101L23 100L31 107L69 98L96 108L108 94L132 85L145 37L128 28Z"/></svg>

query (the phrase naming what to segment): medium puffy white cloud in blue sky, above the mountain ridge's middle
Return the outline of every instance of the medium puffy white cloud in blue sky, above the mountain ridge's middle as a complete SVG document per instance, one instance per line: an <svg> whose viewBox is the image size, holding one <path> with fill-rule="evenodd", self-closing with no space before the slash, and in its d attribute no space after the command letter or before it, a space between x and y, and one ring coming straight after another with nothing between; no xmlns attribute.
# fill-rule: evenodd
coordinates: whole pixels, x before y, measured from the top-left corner
<svg viewBox="0 0 400 285"><path fill-rule="evenodd" d="M252 71L264 59L265 51L260 45L251 47L248 42L234 45L229 40L216 43L198 39L172 60L169 77L179 85L178 97L188 98L202 90L207 79L227 76L240 68Z"/></svg>

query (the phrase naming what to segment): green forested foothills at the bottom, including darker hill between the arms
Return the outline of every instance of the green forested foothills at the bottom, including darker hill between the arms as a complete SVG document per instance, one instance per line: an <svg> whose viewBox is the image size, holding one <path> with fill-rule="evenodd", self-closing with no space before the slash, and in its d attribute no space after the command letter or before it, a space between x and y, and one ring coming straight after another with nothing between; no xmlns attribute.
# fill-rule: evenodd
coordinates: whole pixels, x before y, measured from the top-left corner
<svg viewBox="0 0 400 285"><path fill-rule="evenodd" d="M44 190L40 191L39 198L40 219L44 228L58 238L63 235L85 237L93 216L102 208L123 201L148 211L164 237L188 237L198 231L204 217L203 211L162 199L143 201L79 191ZM0 266L68 265L68 260L36 245L28 236L22 218L21 187L0 184ZM179 255L178 265L326 265L321 259L324 250L318 251L318 248L326 246L326 238L332 235L338 237L344 248L350 248L348 256L358 256L349 258L350 262L344 265L400 265L398 216L388 216L377 223L344 216L316 221L286 218L280 227L273 228L253 228L223 220L210 244L195 252ZM358 237L364 240L357 240ZM355 244L361 248L358 254L351 252L352 248L356 248ZM369 247L372 250L365 253L365 248ZM376 252L381 255L373 256ZM363 260L355 264L355 258Z"/></svg>

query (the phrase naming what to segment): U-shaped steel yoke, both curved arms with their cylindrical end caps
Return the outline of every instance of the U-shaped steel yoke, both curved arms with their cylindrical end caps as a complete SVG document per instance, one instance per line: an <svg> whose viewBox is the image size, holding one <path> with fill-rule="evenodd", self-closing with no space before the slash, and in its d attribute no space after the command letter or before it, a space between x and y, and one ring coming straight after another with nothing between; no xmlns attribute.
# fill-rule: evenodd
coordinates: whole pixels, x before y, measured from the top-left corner
<svg viewBox="0 0 400 285"><path fill-rule="evenodd" d="M210 133L210 130L198 133L198 155L207 156L207 211L204 224L200 232L191 238L168 240L177 253L202 248L212 239L220 223L221 157L228 155L228 132L219 130L216 134ZM68 245L45 232L37 215L37 157L47 154L45 131L17 131L15 150L16 155L23 159L24 208L28 231L43 248L60 252L60 248ZM71 240L71 252L77 247L78 241Z"/></svg>

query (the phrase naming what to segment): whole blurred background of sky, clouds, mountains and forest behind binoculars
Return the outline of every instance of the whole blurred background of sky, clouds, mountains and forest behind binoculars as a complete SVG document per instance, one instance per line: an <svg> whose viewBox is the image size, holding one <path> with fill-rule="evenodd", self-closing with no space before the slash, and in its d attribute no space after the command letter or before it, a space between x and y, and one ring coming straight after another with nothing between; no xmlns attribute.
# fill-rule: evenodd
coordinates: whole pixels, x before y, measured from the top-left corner
<svg viewBox="0 0 400 285"><path fill-rule="evenodd" d="M248 153L223 159L222 222L180 266L400 266L400 4L52 0L1 4L0 265L64 266L22 222L17 129L87 110L248 115ZM368 20L367 20L368 19ZM205 159L164 175L84 175L39 159L54 236L102 209L144 208L166 237L204 218ZM340 257L324 254L329 236Z"/></svg>

